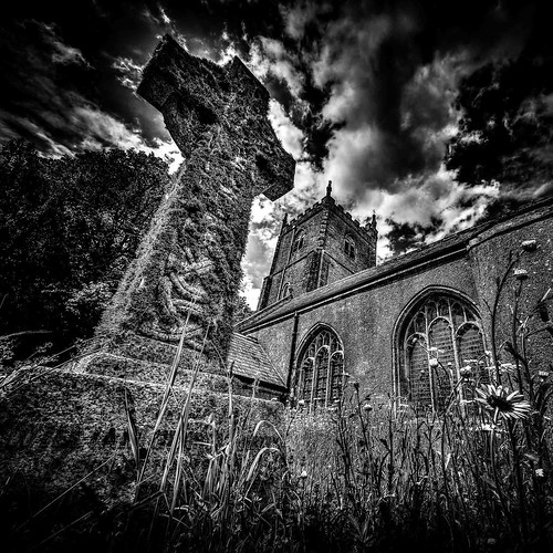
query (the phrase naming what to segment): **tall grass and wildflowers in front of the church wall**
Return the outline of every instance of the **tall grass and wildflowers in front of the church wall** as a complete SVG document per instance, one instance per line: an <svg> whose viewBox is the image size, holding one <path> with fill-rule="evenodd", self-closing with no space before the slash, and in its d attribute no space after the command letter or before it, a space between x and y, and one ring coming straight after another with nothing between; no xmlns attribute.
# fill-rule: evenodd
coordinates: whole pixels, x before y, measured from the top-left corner
<svg viewBox="0 0 553 553"><path fill-rule="evenodd" d="M491 380L476 379L474 359L440 413L374 405L353 383L331 409L289 407L279 428L254 425L234 409L229 373L227 419L210 418L196 442L177 427L153 547L553 551L551 367L529 361L529 338L553 334L550 295L521 317L517 292L512 341L494 348ZM470 399L459 401L460 387Z"/></svg>

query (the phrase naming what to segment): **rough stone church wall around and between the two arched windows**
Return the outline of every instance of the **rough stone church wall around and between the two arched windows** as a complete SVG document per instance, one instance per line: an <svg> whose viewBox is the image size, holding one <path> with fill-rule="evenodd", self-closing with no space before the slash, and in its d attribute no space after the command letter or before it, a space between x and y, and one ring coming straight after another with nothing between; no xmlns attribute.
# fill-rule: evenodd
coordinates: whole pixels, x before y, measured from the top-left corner
<svg viewBox="0 0 553 553"><path fill-rule="evenodd" d="M344 299L336 299L299 314L298 347L317 323L331 325L344 343L345 369L359 382L363 392L386 397L393 389L393 331L403 309L422 290L441 286L477 300L472 272L467 258L416 272ZM293 313L279 323L258 330L260 341L275 366L288 366ZM284 365L282 365L284 364Z"/></svg>

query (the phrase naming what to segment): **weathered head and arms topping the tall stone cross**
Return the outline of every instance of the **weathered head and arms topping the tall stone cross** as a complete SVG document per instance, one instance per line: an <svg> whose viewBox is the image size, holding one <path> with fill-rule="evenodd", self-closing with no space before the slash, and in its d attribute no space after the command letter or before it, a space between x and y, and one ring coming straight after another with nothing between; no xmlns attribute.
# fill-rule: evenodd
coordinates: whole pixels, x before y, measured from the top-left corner
<svg viewBox="0 0 553 553"><path fill-rule="evenodd" d="M219 66L165 35L137 92L163 113L185 157L198 135L218 123L240 137L254 194L275 200L293 188L295 161L267 119L269 92L238 58Z"/></svg>

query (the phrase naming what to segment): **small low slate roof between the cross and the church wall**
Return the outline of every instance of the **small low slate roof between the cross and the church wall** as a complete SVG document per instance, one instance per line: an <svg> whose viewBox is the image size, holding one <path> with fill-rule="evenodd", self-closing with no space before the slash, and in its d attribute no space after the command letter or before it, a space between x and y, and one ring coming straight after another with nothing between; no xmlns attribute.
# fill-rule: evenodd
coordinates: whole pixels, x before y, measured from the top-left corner
<svg viewBox="0 0 553 553"><path fill-rule="evenodd" d="M285 376L281 375L271 364L269 357L252 336L234 332L230 341L229 365L233 362L232 372L237 376L259 379L261 383L285 387Z"/></svg>

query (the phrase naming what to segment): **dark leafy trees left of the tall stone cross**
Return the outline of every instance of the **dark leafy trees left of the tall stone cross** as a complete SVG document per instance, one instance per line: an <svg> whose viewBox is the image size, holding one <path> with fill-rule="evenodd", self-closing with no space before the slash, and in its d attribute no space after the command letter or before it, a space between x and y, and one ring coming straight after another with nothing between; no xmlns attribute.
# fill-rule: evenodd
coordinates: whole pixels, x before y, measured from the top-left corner
<svg viewBox="0 0 553 553"><path fill-rule="evenodd" d="M15 358L43 343L35 331L56 349L92 334L167 182L165 161L134 150L1 150L0 336L24 338Z"/></svg>

